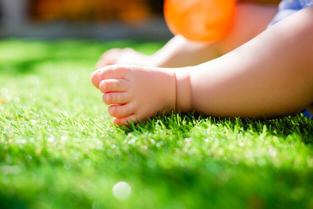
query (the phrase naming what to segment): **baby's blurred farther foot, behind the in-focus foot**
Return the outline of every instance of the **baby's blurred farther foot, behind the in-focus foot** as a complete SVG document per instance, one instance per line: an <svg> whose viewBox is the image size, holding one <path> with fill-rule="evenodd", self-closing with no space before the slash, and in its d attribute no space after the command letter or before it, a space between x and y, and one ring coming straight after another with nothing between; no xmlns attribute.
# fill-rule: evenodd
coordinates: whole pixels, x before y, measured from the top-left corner
<svg viewBox="0 0 313 209"><path fill-rule="evenodd" d="M147 66L149 65L148 60L148 55L141 54L131 48L111 49L100 57L96 63L96 68L115 64Z"/></svg>

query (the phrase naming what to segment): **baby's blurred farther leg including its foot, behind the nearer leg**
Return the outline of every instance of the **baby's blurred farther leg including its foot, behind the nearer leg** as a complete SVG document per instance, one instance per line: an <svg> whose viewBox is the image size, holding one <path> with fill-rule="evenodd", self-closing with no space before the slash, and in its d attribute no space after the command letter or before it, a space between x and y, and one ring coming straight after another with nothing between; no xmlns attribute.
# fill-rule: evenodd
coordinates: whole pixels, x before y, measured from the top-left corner
<svg viewBox="0 0 313 209"><path fill-rule="evenodd" d="M156 67L184 67L217 58L244 44L266 29L277 6L238 4L234 25L228 35L215 43L191 42L175 36L152 56L131 49L113 49L104 53L97 67L111 64L135 64Z"/></svg>

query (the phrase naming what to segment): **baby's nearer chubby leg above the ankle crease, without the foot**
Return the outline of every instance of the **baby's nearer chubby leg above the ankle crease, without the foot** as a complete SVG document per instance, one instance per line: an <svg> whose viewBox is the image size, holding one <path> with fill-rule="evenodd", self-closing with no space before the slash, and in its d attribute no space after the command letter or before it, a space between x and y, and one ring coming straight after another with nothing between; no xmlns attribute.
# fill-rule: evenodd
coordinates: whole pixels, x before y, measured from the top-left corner
<svg viewBox="0 0 313 209"><path fill-rule="evenodd" d="M186 76L190 93L177 95L184 96L187 109L216 117L273 118L301 111L313 103L312 18L313 7L301 10L196 66Z"/></svg>

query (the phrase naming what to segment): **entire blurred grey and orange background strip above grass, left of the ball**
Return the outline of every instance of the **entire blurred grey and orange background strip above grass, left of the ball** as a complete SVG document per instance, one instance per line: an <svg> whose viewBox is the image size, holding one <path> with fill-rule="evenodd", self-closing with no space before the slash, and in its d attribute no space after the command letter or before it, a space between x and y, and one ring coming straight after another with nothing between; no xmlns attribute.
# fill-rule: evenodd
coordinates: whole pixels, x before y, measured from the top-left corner
<svg viewBox="0 0 313 209"><path fill-rule="evenodd" d="M167 40L163 0L0 0L0 38Z"/></svg>

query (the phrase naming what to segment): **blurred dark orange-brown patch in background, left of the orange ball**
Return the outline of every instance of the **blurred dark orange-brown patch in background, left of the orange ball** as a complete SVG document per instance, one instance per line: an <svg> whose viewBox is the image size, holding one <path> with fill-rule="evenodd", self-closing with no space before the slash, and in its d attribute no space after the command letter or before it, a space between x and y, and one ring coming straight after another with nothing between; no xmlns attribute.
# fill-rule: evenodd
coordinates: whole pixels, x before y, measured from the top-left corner
<svg viewBox="0 0 313 209"><path fill-rule="evenodd" d="M145 0L28 0L30 18L37 21L136 20L152 15Z"/></svg>

